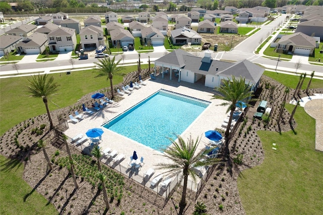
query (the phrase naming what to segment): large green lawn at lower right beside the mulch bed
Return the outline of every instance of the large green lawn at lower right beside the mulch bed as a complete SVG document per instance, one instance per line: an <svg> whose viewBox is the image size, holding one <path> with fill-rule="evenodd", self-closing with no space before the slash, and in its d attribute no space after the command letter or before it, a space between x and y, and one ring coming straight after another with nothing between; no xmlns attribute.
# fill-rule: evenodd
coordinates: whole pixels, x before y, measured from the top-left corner
<svg viewBox="0 0 323 215"><path fill-rule="evenodd" d="M291 113L294 105L287 104ZM323 211L323 156L314 150L315 120L299 107L292 131L258 131L265 153L260 166L238 178L247 214L321 214ZM273 150L276 143L277 150Z"/></svg>

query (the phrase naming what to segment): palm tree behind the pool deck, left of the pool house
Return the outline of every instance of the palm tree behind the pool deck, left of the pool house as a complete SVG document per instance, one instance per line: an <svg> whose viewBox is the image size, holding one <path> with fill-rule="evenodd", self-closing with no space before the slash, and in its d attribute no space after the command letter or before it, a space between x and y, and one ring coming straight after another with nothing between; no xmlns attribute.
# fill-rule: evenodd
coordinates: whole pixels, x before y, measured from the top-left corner
<svg viewBox="0 0 323 215"><path fill-rule="evenodd" d="M110 58L104 58L104 59L99 59L99 62L94 62L94 64L96 66L99 67L99 75L100 76L107 76L107 79L110 79L110 86L111 86L111 96L112 98L115 97L114 95L114 89L113 89L113 83L112 83L112 79L113 79L113 75L117 72L119 72L121 70L120 67L117 67L121 61L121 59L119 61L115 61L116 60L116 56L113 57L113 59Z"/></svg>

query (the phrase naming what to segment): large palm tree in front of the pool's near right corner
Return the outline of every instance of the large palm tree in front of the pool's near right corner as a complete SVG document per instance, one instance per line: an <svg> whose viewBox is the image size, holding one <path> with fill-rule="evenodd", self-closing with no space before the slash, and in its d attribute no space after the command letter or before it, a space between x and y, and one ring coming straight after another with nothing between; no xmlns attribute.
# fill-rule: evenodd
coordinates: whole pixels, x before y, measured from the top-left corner
<svg viewBox="0 0 323 215"><path fill-rule="evenodd" d="M213 165L219 162L218 158L208 158L205 156L205 152L197 152L197 146L200 142L200 139L194 141L191 137L186 143L184 139L177 135L178 143L174 139L170 138L172 141L171 147L164 149L162 156L172 160L172 163L158 163L158 169L167 169L166 173L169 173L171 177L183 173L183 176L180 180L184 178L182 199L180 202L179 214L182 215L186 206L186 190L187 190L187 181L188 176L191 175L194 181L198 177L197 173L194 171L195 167L203 167L208 165ZM204 158L204 159L202 159ZM202 159L202 160L201 160Z"/></svg>

